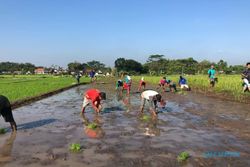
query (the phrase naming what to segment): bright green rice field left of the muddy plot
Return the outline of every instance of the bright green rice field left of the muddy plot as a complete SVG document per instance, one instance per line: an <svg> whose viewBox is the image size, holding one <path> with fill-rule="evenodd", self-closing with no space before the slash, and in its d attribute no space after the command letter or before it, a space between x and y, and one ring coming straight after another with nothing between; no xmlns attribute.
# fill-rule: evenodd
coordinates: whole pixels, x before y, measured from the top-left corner
<svg viewBox="0 0 250 167"><path fill-rule="evenodd" d="M81 78L81 82L89 81L89 78ZM76 79L72 76L16 75L13 77L12 75L0 75L0 94L8 97L13 102L75 83Z"/></svg>

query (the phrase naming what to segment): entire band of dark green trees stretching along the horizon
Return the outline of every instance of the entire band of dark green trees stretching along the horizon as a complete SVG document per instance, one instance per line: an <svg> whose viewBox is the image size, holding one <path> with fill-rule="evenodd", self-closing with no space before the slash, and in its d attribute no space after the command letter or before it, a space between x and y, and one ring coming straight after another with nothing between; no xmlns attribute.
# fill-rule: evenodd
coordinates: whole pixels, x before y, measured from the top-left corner
<svg viewBox="0 0 250 167"><path fill-rule="evenodd" d="M217 72L225 74L239 74L244 70L243 65L228 65L226 61L211 62L203 60L198 62L192 57L186 59L167 59L164 55L150 55L146 63L140 63L133 59L117 58L114 62L114 67L111 69L100 61L89 61L81 63L78 61L68 63L67 71L87 73L90 70L101 71L102 73L122 73L128 72L130 74L207 74L207 70L213 64ZM0 62L0 73L20 71L22 74L26 72L34 73L36 66L31 63L14 63L14 62ZM45 68L49 73L55 69L62 69L60 66L52 65Z"/></svg>

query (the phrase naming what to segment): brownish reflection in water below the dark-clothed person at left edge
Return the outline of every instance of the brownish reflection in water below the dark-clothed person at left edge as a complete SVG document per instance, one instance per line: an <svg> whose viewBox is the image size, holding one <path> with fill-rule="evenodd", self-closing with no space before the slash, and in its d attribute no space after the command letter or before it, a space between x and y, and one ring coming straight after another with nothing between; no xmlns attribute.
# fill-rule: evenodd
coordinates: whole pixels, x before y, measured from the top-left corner
<svg viewBox="0 0 250 167"><path fill-rule="evenodd" d="M11 152L15 139L16 132L12 132L9 138L6 139L5 143L0 146L0 164L12 160Z"/></svg>

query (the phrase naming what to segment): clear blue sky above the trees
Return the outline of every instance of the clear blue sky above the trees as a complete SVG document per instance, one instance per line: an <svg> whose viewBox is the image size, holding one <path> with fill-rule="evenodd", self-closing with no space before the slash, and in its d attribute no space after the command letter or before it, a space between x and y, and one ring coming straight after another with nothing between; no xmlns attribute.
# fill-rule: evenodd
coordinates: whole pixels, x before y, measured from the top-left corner
<svg viewBox="0 0 250 167"><path fill-rule="evenodd" d="M0 0L0 62L250 61L249 0Z"/></svg>

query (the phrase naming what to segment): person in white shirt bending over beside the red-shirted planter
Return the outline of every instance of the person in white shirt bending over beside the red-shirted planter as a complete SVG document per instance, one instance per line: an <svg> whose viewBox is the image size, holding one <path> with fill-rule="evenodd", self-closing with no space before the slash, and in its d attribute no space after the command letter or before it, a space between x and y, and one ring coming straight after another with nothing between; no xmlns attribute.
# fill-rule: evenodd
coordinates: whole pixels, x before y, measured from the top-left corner
<svg viewBox="0 0 250 167"><path fill-rule="evenodd" d="M161 95L154 90L146 90L141 93L141 107L140 112L143 113L145 102L149 103L149 111L153 116L157 116L156 108L157 102L160 103L161 107L165 107L166 102L162 99Z"/></svg>

